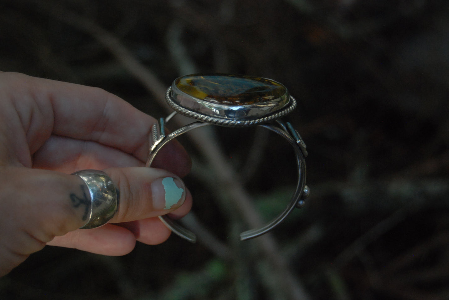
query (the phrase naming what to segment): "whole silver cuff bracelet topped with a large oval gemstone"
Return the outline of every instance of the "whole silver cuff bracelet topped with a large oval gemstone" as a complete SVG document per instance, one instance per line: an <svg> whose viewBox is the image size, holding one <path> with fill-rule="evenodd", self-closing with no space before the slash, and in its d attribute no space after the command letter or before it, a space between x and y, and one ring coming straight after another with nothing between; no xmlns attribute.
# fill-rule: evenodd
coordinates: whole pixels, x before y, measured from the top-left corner
<svg viewBox="0 0 449 300"><path fill-rule="evenodd" d="M280 83L277 83L271 79L255 78L246 75L231 74L230 75L231 78L225 78L226 83L225 85L227 89L226 92L229 92L229 89L232 90L232 84L229 84L229 82L232 83L232 80L234 80L234 78L250 81L262 80L264 84L268 82L268 85L273 83L282 86L285 89L285 91L281 92L280 94L278 93L277 95L281 96L277 98L273 96L273 93L272 94L268 93L267 96L268 100L266 101L259 99L266 96L265 94L267 93L264 93L261 94L261 96L250 95L250 97L252 98L251 103L249 104L225 105L222 103L216 103L216 99L209 99L211 97L202 95L206 94L203 91L207 91L203 89L204 84L212 82L212 84L215 84L213 88L215 88L216 85L223 84L222 83L223 81L220 81L223 78L221 78L220 76L223 77L228 75L227 74L187 75L177 78L173 82L172 86L167 89L165 95L167 103L175 111L165 119L160 118L159 121L152 126L151 130L152 134L150 136L150 144L151 144L150 155L146 163L146 166L147 167L151 166L154 157L156 157L158 151L172 139L175 139L176 137L195 128L208 125L219 125L226 127L261 126L268 130L273 131L277 135L280 135L282 138L286 139L286 141L290 143L294 149L295 161L298 168L297 169L298 179L294 195L292 196L286 209L280 215L274 218L271 222L269 222L268 224L266 224L261 228L242 232L242 234L240 235L240 239L247 240L267 233L268 231L272 230L274 227L279 225L282 221L284 221L284 219L293 211L293 209L301 208L304 206L305 204L304 200L310 194L309 188L306 185L305 157L307 157L308 153L306 150L306 145L301 136L299 135L298 131L296 131L289 122L283 122L280 119L280 117L286 115L287 113L290 113L291 110L293 110L296 106L295 99L288 94L288 91L286 90L285 87L283 87ZM180 81L182 82L182 80L184 80L185 78L189 79L189 81L187 82L190 86L194 86L195 84L197 84L197 83L192 84L194 80L199 80L200 82L201 80L203 80L201 84L198 84L200 85L200 89L202 90L200 90L199 92L198 91L189 92L191 88L187 86L186 90L188 92L186 93L185 91L183 91L182 90L183 87L181 86L181 88L179 88L178 85ZM244 82L243 85L248 86L248 83ZM229 88L229 86L231 87ZM240 88L240 90L241 89L242 88ZM252 90L256 89L252 88ZM202 99L198 99L197 96L198 94L201 95ZM245 93L245 95L247 95L247 93ZM253 98L256 99L255 101L259 102L253 103L254 102L252 101ZM176 113L180 113L182 115L197 119L199 121L183 126L178 130L175 130L167 135L165 131L165 124L169 122L170 119L174 115L176 115ZM196 235L192 233L190 230L187 230L184 227L180 226L177 222L174 222L167 216L160 216L159 218L176 235L179 235L180 237L192 243L196 242Z"/></svg>

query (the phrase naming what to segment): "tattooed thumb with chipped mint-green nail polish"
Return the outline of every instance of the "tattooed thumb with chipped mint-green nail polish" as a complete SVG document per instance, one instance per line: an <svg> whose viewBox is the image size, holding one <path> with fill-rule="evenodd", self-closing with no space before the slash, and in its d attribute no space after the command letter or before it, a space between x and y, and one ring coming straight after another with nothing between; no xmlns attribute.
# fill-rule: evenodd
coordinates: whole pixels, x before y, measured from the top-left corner
<svg viewBox="0 0 449 300"><path fill-rule="evenodd" d="M165 170L134 167L104 170L119 189L119 207L110 222L128 222L170 213L190 196L184 183ZM85 208L74 205L86 189L76 176L55 171L0 166L0 276L55 236L83 226ZM190 201L191 199L189 199Z"/></svg>

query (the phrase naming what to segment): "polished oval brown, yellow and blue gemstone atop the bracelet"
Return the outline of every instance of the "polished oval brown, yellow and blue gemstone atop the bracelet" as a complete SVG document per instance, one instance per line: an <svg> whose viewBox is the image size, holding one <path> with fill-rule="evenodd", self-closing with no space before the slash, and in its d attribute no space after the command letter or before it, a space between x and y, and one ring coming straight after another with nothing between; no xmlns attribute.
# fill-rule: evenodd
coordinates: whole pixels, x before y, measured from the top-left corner
<svg viewBox="0 0 449 300"><path fill-rule="evenodd" d="M189 96L222 105L262 104L287 93L286 87L276 81L239 74L193 74L174 83Z"/></svg>

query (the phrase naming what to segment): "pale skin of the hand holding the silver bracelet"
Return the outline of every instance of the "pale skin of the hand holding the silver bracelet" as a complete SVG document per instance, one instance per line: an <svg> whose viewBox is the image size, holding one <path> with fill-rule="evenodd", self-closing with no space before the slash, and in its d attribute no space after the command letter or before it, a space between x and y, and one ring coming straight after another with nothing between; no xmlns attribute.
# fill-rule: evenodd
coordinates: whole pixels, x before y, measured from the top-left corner
<svg viewBox="0 0 449 300"><path fill-rule="evenodd" d="M175 142L145 167L154 122L99 88L0 72L0 276L45 245L117 256L165 241L158 216L184 216L192 198L155 209L151 183L184 176L190 161ZM70 174L84 169L103 170L120 191L115 216L94 229L78 229L84 210L71 201L85 186Z"/></svg>

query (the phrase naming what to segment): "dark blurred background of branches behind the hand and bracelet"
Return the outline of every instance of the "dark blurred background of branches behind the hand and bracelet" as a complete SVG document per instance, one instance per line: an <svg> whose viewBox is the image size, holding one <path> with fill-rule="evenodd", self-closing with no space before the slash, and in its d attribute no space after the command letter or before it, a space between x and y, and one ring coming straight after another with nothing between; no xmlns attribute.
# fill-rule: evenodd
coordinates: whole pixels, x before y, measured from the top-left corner
<svg viewBox="0 0 449 300"><path fill-rule="evenodd" d="M245 212L183 137L199 243L172 235L124 257L46 247L0 278L0 299L449 299L448 54L444 0L1 0L0 70L101 87L154 117L180 75L283 83L312 193L240 242ZM207 135L260 217L280 213L290 146L254 128Z"/></svg>

